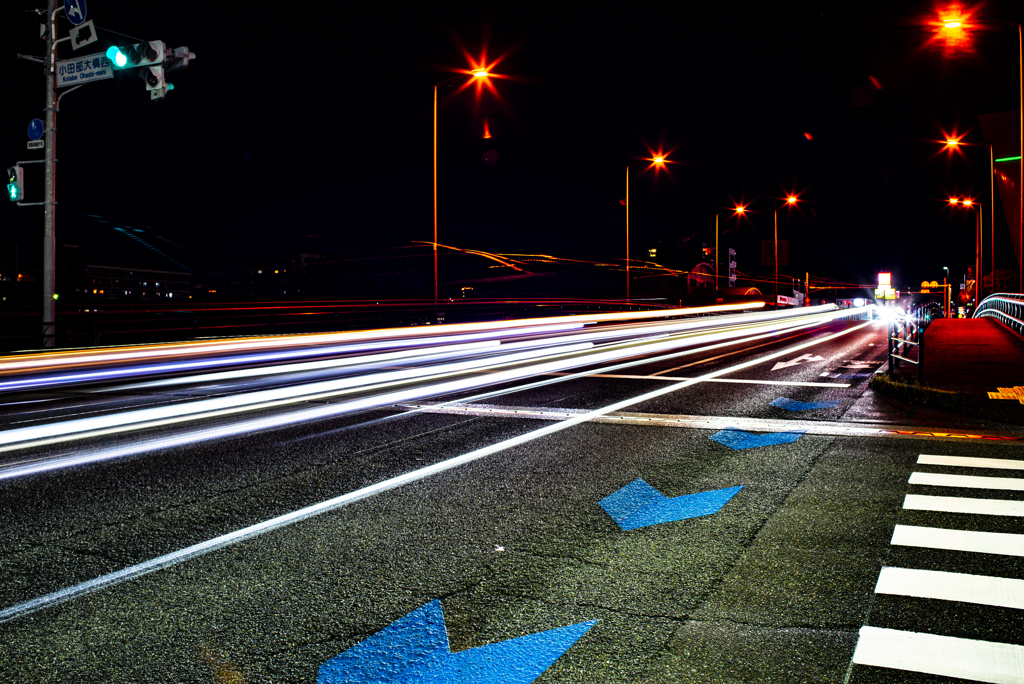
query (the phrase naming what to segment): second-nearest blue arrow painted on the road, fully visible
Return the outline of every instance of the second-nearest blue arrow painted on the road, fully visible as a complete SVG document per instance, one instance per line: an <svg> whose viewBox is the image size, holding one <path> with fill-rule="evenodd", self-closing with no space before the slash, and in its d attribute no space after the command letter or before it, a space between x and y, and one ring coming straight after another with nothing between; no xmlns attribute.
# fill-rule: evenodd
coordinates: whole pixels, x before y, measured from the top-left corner
<svg viewBox="0 0 1024 684"><path fill-rule="evenodd" d="M682 497L664 494L637 478L599 503L623 529L636 529L718 513L743 485Z"/></svg>

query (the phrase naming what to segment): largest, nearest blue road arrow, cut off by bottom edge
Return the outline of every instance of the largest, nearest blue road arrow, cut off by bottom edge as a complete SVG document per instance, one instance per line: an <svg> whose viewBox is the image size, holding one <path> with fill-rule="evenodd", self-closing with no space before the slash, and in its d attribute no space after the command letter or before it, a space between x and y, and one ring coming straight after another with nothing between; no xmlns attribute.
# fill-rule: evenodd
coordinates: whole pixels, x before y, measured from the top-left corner
<svg viewBox="0 0 1024 684"><path fill-rule="evenodd" d="M453 653L433 600L321 666L316 684L529 684L596 619Z"/></svg>

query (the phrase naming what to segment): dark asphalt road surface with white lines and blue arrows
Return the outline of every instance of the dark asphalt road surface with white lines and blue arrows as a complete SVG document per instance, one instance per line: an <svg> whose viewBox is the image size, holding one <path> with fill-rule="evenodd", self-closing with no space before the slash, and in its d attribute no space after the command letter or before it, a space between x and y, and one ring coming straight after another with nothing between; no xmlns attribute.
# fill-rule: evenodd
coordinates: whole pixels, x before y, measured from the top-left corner
<svg viewBox="0 0 1024 684"><path fill-rule="evenodd" d="M0 679L1024 682L1024 421L874 396L878 322L716 344L0 452ZM218 382L0 415L291 386Z"/></svg>

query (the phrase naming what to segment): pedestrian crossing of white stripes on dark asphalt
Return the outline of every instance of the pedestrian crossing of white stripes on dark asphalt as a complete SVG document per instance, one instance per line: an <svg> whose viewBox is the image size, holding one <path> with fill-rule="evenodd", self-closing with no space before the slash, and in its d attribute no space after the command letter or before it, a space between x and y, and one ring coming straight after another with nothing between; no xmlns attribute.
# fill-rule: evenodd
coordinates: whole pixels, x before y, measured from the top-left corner
<svg viewBox="0 0 1024 684"><path fill-rule="evenodd" d="M1024 474L1006 476L1024 461L921 455L916 465L930 468L915 470L910 485L964 496L905 496L891 541L896 562L879 574L849 681L1024 684L1024 501L1016 494ZM1002 473L977 474L986 469ZM925 516L930 524L903 524Z"/></svg>

